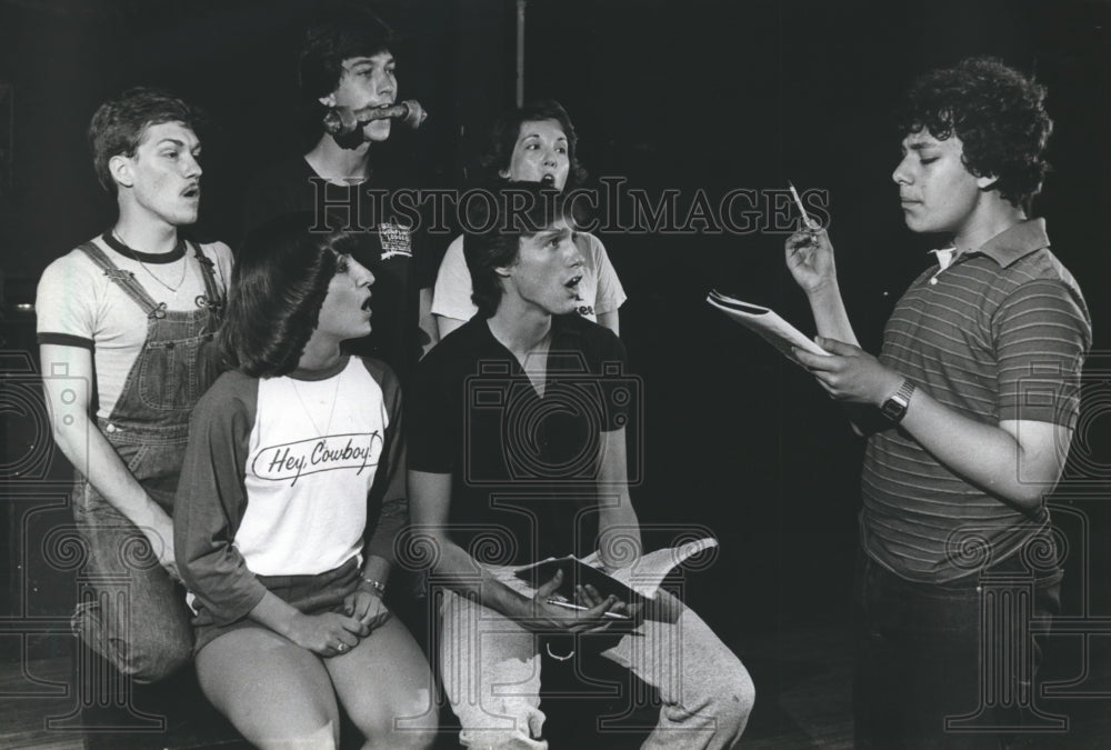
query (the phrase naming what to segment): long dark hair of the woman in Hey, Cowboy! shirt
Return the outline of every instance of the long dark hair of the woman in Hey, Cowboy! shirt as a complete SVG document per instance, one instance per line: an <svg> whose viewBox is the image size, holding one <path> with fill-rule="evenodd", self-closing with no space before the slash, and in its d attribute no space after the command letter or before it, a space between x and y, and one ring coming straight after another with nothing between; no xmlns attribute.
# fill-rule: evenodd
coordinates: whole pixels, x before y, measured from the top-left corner
<svg viewBox="0 0 1111 750"><path fill-rule="evenodd" d="M353 234L313 232L312 226L312 213L279 217L251 231L236 256L220 336L229 364L249 376L297 368L339 257L359 244Z"/></svg>

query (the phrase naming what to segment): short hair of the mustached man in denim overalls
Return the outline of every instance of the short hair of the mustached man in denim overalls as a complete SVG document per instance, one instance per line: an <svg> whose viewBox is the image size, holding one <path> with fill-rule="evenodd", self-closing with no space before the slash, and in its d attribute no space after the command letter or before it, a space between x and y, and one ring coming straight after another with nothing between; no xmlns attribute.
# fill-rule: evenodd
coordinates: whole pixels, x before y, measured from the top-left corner
<svg viewBox="0 0 1111 750"><path fill-rule="evenodd" d="M112 157L133 157L147 131L163 122L180 122L193 132L206 124L204 113L168 91L147 87L128 89L101 104L89 122L92 166L101 187L118 192L108 162Z"/></svg>

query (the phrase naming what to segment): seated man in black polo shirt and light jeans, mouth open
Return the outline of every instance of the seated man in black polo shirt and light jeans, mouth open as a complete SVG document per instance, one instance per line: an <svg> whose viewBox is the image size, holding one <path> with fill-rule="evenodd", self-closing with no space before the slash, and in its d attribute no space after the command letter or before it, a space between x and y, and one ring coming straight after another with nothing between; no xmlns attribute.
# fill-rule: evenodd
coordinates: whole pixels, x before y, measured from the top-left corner
<svg viewBox="0 0 1111 750"><path fill-rule="evenodd" d="M529 598L512 568L594 550L603 569L634 560L623 424L635 388L618 338L573 314L582 256L558 194L514 183L471 207L470 227L487 228L463 244L479 314L418 369L410 503L450 589L440 673L460 741L544 748L538 636L598 629L627 608L592 590L578 592L584 611L552 606L558 578ZM733 744L753 700L737 657L663 592L631 624L603 656L659 689L645 747Z"/></svg>

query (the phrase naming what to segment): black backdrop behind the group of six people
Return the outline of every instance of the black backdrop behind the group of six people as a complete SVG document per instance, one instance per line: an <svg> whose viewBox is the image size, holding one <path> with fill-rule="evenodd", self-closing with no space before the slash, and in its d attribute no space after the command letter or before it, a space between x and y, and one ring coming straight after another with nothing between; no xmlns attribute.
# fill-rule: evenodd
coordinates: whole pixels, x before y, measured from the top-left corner
<svg viewBox="0 0 1111 750"><path fill-rule="evenodd" d="M33 302L48 262L113 218L84 130L96 107L127 87L169 87L213 117L198 229L238 237L247 180L306 147L293 50L310 6L0 4L0 82L13 87L3 172L10 187L0 190L4 348L34 351L33 319L16 306ZM513 103L514 4L420 0L376 8L402 33L400 97L431 112L414 133L396 128L383 153L411 166L414 186L462 184L479 136ZM1092 544L1070 548L1065 608L1080 611L1088 602L1085 611L1107 613L1105 577L1084 591L1075 573L1107 570L1111 530L1109 316L1101 288L1111 278L1108 4L530 0L527 18L526 98L564 103L594 178L623 177L653 192L677 188L688 201L698 188L720 197L733 188L782 189L788 179L827 190L842 290L873 352L894 300L927 263L922 251L937 247L903 227L890 179L900 136L888 116L898 94L915 74L973 53L1037 73L1050 90L1055 132L1053 172L1035 213L1047 218L1054 251L1084 289L1095 326L1090 410L1058 500L1085 519ZM449 239L436 241L440 252ZM772 306L811 331L805 300L783 266L783 234L602 239L629 293L622 338L643 378L638 442L645 471L634 489L642 520L702 524L722 544L715 564L689 578L690 601L741 651L747 633L843 623L862 444L804 372L704 303L717 287ZM42 437L26 421L10 422L9 453ZM51 476L61 476L58 464ZM28 533L16 509L31 490L11 487L4 531L16 549ZM7 564L6 611L38 607L57 614L72 601L67 590L54 599L38 592L33 607L18 603L37 573L11 556Z"/></svg>

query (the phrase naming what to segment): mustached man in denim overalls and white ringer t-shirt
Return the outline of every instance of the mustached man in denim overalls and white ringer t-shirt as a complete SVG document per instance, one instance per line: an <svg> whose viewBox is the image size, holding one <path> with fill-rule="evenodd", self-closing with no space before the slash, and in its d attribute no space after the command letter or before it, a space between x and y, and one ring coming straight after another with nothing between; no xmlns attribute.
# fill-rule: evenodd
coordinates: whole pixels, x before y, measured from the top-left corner
<svg viewBox="0 0 1111 750"><path fill-rule="evenodd" d="M173 561L189 414L219 373L231 252L186 242L200 203L199 112L153 89L106 102L89 139L119 219L52 262L36 310L54 441L80 481L73 513L90 596L74 632L123 674L184 664L192 631Z"/></svg>

